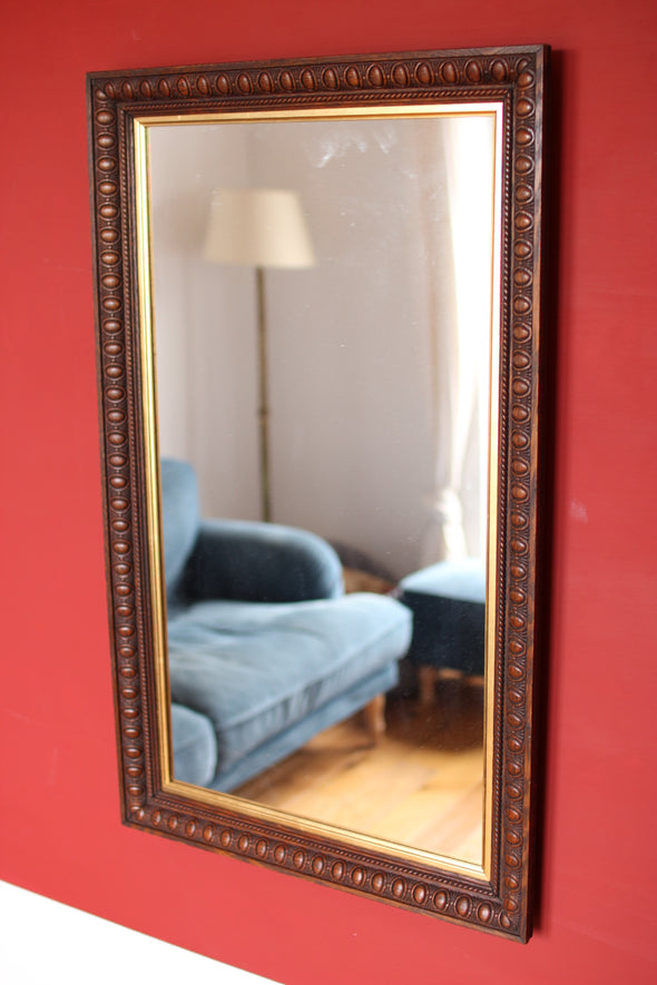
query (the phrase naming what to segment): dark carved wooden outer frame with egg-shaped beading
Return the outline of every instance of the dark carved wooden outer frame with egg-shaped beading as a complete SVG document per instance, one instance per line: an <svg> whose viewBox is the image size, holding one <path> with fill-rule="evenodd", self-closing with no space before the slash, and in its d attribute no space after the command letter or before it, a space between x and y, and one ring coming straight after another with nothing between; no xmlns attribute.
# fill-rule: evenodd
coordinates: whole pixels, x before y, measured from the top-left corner
<svg viewBox="0 0 657 985"><path fill-rule="evenodd" d="M107 582L126 824L518 940L531 933L543 87L548 50L432 51L88 76ZM131 121L336 106L504 105L490 879L163 782ZM165 739L166 741L166 739Z"/></svg>

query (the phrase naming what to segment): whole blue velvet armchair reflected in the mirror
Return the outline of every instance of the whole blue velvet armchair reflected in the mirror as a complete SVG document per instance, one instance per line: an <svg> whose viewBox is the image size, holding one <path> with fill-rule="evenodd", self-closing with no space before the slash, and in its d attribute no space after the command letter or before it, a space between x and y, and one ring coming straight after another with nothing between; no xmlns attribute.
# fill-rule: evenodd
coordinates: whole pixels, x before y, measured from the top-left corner
<svg viewBox="0 0 657 985"><path fill-rule="evenodd" d="M174 776L229 791L394 687L412 617L312 533L202 519L187 463L161 494Z"/></svg>

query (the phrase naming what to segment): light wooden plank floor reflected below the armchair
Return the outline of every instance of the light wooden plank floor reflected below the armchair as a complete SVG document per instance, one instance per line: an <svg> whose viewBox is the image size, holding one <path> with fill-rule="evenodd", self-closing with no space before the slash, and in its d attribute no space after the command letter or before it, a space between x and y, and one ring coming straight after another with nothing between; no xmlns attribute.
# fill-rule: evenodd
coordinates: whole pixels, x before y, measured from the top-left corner
<svg viewBox="0 0 657 985"><path fill-rule="evenodd" d="M481 863L483 689L441 680L434 702L389 699L372 746L355 716L235 792L301 817Z"/></svg>

